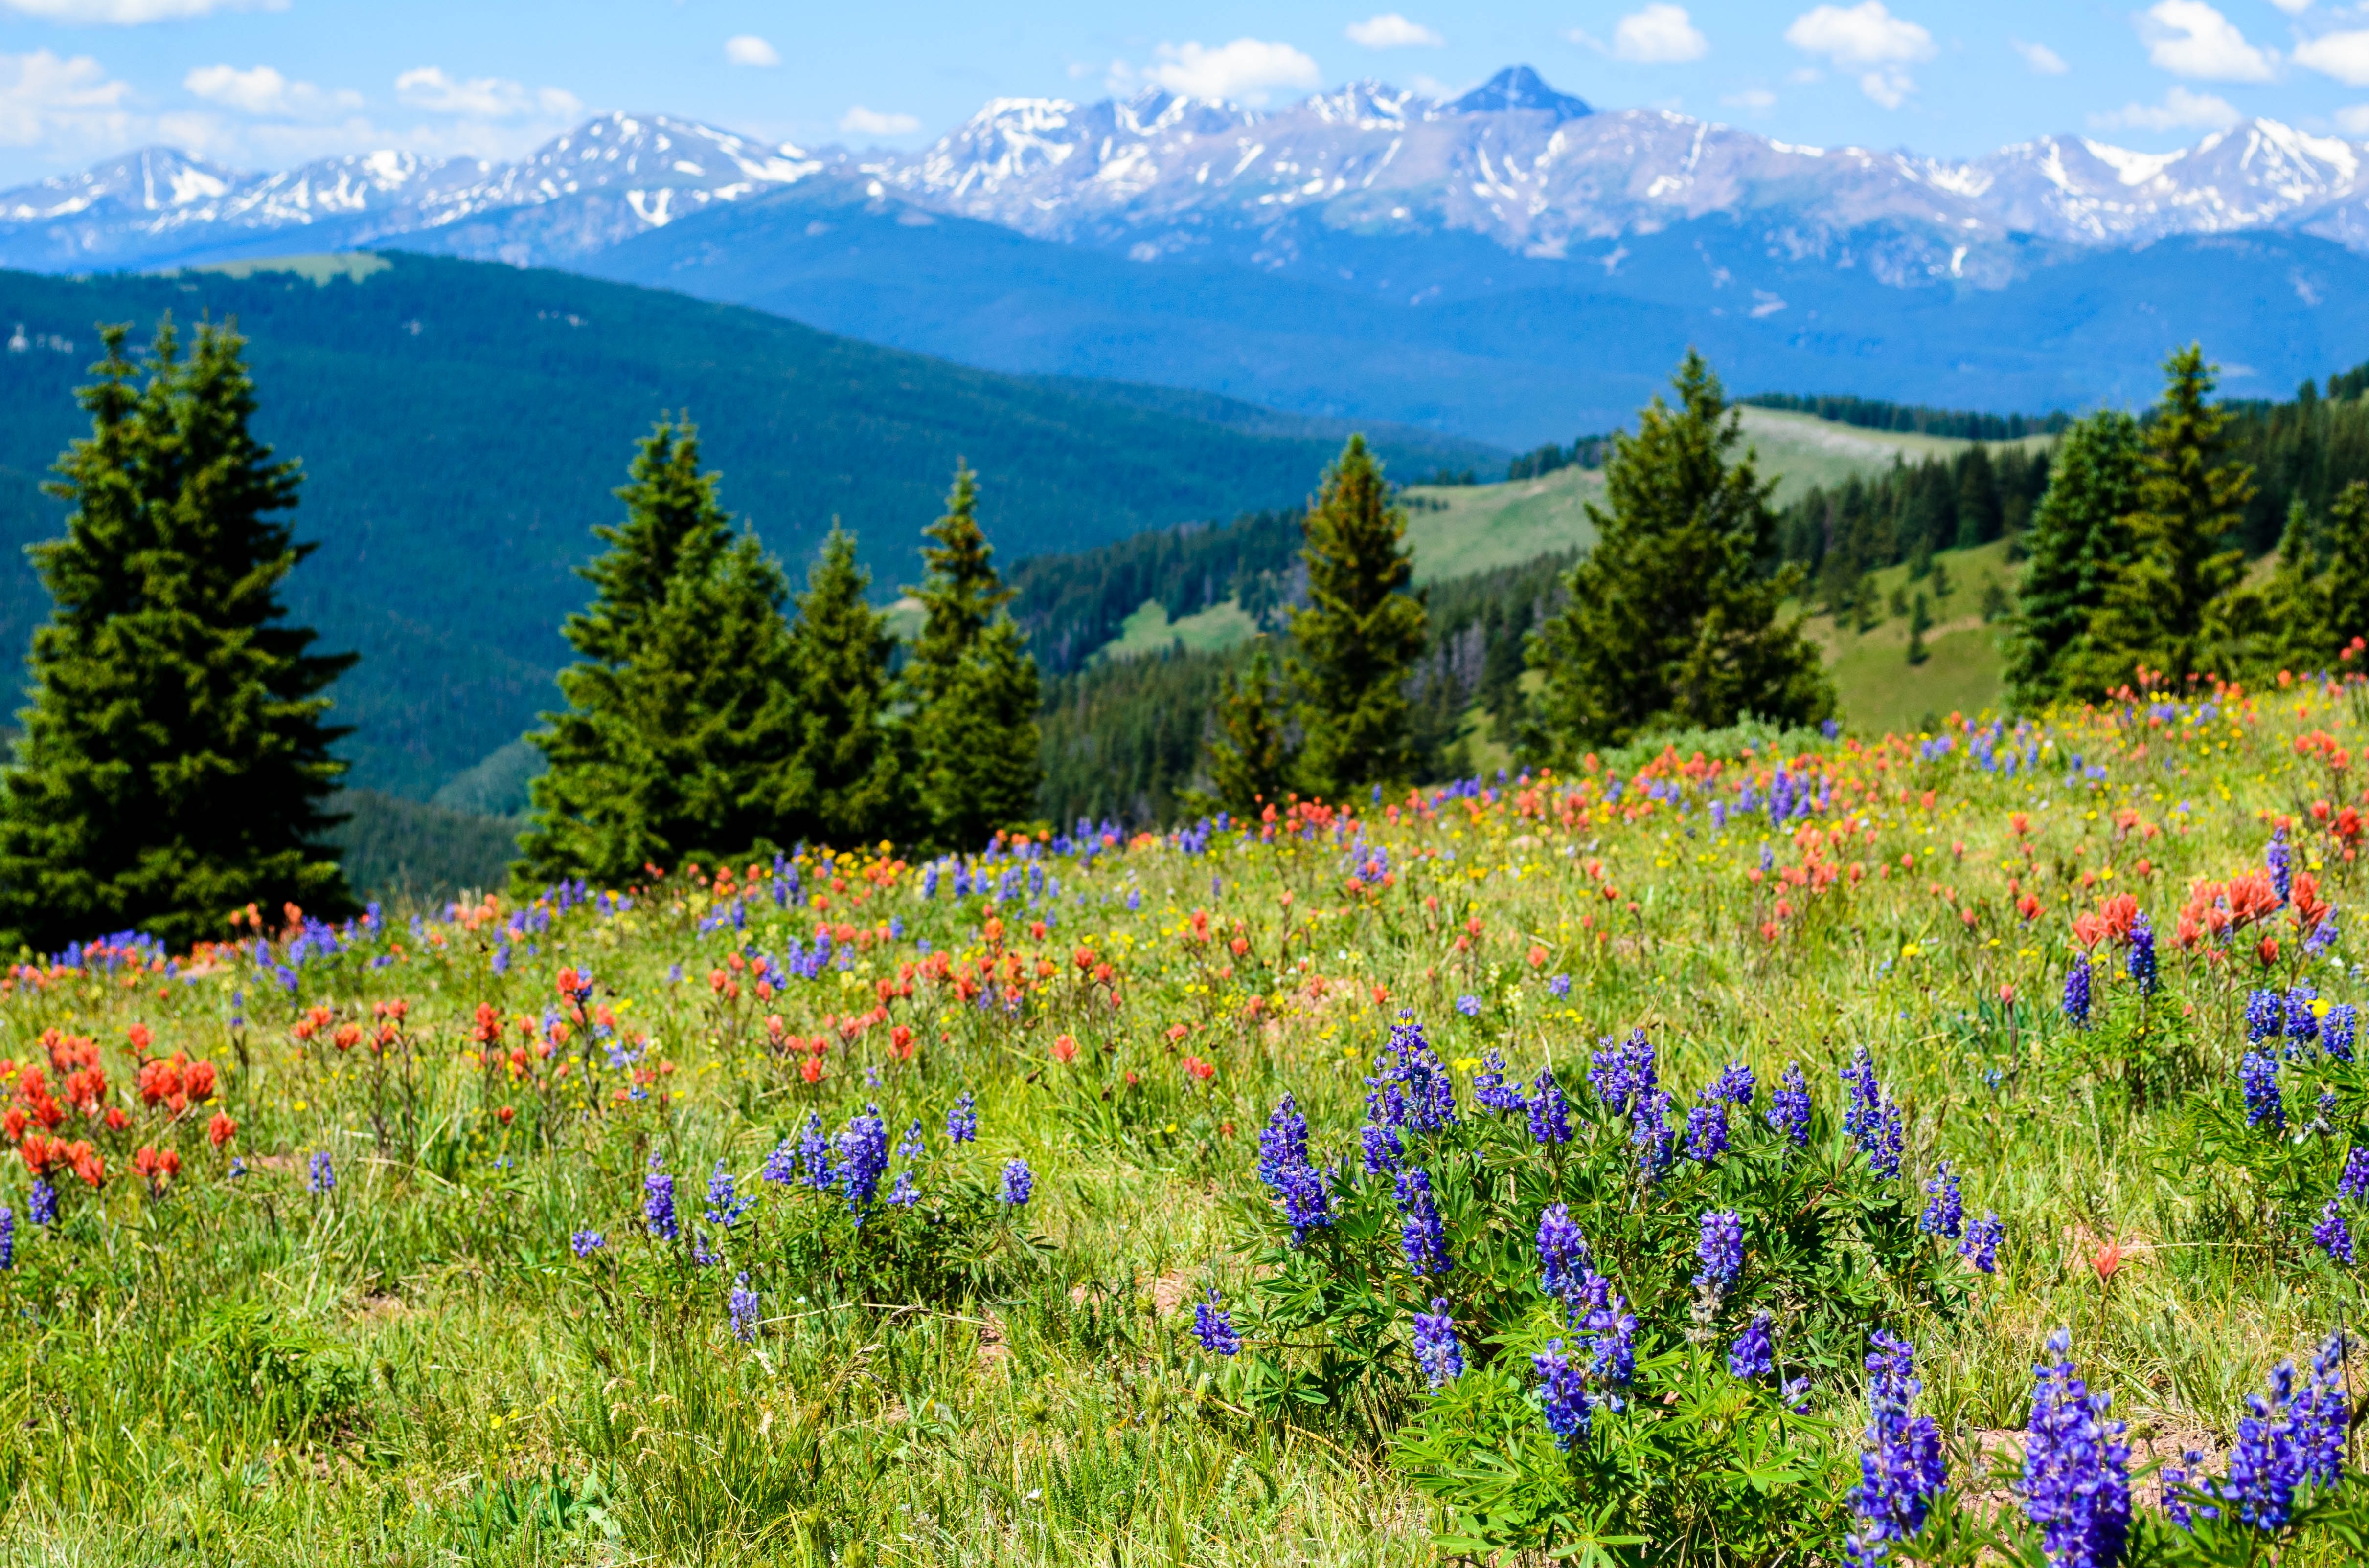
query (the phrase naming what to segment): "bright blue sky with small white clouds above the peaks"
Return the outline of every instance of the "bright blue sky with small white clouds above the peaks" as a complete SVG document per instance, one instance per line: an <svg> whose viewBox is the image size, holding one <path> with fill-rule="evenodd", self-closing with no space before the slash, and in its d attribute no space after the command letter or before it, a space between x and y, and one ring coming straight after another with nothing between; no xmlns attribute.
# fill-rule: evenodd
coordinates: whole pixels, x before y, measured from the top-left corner
<svg viewBox="0 0 2369 1568"><path fill-rule="evenodd" d="M0 182L145 142L514 156L595 109L912 147L990 97L1450 92L1514 62L1599 107L1945 156L2255 114L2369 137L2369 0L1386 2L0 0Z"/></svg>

